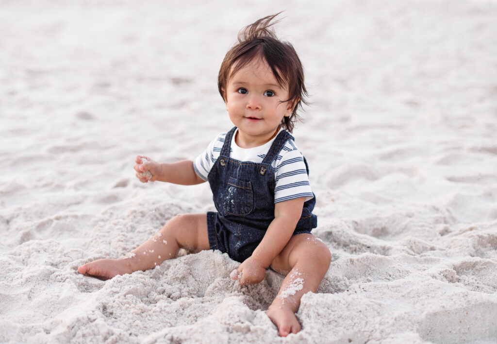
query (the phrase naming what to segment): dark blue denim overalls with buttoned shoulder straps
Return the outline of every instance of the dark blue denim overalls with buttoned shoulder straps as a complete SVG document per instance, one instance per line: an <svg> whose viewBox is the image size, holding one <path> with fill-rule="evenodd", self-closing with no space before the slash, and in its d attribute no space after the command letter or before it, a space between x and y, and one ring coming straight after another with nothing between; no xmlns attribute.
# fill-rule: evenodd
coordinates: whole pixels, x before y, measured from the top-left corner
<svg viewBox="0 0 497 344"><path fill-rule="evenodd" d="M264 160L255 163L230 158L235 130L236 127L226 134L221 154L207 176L218 211L207 213L207 229L211 249L227 252L232 259L243 262L274 219L275 171L271 162L293 136L280 131ZM304 162L309 174L305 158ZM316 197L304 203L293 235L310 233L317 227L317 217L312 214L315 204Z"/></svg>

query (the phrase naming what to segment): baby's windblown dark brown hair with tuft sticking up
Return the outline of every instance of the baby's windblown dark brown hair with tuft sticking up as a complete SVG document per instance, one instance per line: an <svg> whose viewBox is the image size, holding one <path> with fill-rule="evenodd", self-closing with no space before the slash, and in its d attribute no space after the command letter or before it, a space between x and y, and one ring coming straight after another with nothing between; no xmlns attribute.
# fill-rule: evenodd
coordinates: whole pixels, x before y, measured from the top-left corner
<svg viewBox="0 0 497 344"><path fill-rule="evenodd" d="M244 27L238 33L238 43L224 57L219 70L218 89L226 101L226 87L231 75L248 65L256 58L261 58L271 68L278 84L288 89L289 98L284 102L292 102L292 114L283 117L281 126L292 132L295 122L301 120L297 108L308 104L306 87L304 86L304 70L297 52L286 41L280 41L272 27L278 21L271 22L279 13L268 15Z"/></svg>

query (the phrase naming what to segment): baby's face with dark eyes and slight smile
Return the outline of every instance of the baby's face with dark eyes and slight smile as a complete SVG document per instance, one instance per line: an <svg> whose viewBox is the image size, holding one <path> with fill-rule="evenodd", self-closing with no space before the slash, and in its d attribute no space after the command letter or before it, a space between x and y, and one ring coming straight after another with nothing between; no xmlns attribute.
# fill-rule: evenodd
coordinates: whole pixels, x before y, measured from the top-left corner
<svg viewBox="0 0 497 344"><path fill-rule="evenodd" d="M238 127L237 144L239 139L251 146L269 141L283 117L292 114L292 102L282 103L288 97L288 89L278 84L263 60L254 60L231 75L225 102Z"/></svg>

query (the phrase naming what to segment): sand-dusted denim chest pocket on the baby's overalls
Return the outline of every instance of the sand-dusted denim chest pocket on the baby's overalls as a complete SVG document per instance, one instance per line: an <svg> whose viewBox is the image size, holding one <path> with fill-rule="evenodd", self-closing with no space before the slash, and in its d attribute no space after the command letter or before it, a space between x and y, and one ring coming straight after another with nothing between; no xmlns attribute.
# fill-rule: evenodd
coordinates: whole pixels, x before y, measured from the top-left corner
<svg viewBox="0 0 497 344"><path fill-rule="evenodd" d="M248 215L253 209L252 183L230 177L223 193L218 195L223 215Z"/></svg>

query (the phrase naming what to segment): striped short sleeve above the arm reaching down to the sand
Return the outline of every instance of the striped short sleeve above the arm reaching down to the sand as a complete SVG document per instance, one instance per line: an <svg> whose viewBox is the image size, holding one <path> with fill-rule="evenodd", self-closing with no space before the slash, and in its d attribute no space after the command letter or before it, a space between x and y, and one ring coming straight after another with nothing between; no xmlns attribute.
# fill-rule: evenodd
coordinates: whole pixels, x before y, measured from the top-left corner
<svg viewBox="0 0 497 344"><path fill-rule="evenodd" d="M275 167L274 203L301 197L305 197L306 201L312 199L314 194L300 150L285 150L284 147L279 157Z"/></svg>

